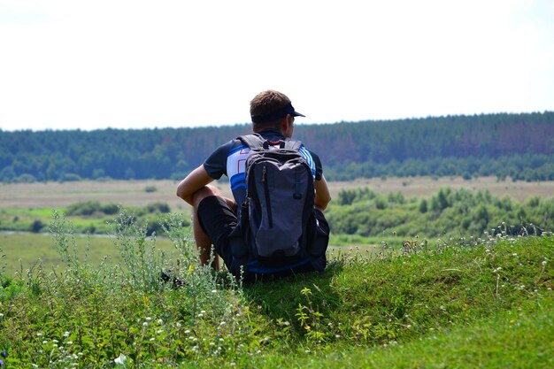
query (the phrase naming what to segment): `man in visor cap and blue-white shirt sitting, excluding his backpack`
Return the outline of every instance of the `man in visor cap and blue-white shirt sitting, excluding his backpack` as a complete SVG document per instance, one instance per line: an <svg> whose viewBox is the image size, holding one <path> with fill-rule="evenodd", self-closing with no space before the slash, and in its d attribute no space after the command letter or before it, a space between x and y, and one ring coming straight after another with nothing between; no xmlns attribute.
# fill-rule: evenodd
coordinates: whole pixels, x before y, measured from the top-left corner
<svg viewBox="0 0 554 369"><path fill-rule="evenodd" d="M289 97L281 92L267 90L255 96L250 102L250 116L252 131L271 142L289 139L293 135L295 117L304 117L295 111ZM246 198L246 181L244 163L250 150L239 139L231 140L215 150L203 165L198 166L181 181L177 188L177 196L181 197L193 207L193 234L196 247L200 252L200 261L206 265L211 257L212 244L216 255L212 267L219 270L221 257L227 269L234 270L233 254L229 246L229 234L235 229L240 216L241 204ZM331 200L327 181L323 176L319 157L313 152L300 149L306 163L310 165L315 178L315 214L318 231L327 234L327 220L323 212ZM219 180L223 175L229 178L233 199L222 196L220 191L209 183ZM327 247L327 243L326 243ZM287 273L301 273L325 268L325 255L312 260L307 265L290 267ZM287 274L284 273L284 274ZM280 274L280 273L275 273Z"/></svg>

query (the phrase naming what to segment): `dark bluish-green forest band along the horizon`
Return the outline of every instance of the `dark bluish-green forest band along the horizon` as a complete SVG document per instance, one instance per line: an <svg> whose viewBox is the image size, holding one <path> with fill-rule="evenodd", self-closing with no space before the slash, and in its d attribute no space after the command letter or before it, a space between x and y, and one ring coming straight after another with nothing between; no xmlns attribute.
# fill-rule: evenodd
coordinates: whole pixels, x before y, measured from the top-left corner
<svg viewBox="0 0 554 369"><path fill-rule="evenodd" d="M0 130L0 181L180 179L250 125ZM554 180L554 111L297 123L330 181L386 176Z"/></svg>

